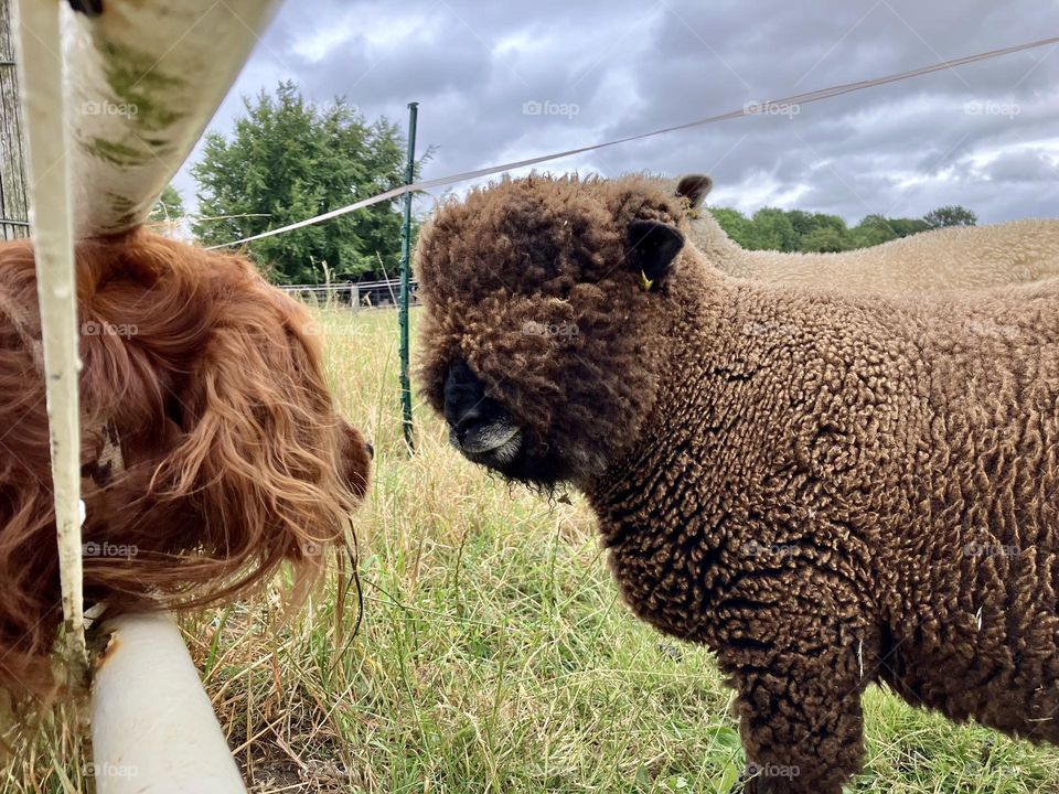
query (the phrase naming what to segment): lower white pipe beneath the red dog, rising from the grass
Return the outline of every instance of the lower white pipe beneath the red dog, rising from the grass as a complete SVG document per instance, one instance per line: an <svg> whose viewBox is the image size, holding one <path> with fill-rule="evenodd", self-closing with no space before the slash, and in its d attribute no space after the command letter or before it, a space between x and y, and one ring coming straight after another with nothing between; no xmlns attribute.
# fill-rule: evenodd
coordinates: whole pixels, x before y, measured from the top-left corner
<svg viewBox="0 0 1059 794"><path fill-rule="evenodd" d="M172 619L128 614L103 630L92 685L97 794L246 794Z"/></svg>

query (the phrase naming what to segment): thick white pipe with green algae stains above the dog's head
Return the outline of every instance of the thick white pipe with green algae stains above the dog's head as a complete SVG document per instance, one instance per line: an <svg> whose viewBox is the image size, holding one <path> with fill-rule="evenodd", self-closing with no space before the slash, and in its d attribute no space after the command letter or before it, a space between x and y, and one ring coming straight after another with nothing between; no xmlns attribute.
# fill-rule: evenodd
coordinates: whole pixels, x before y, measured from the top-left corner
<svg viewBox="0 0 1059 794"><path fill-rule="evenodd" d="M78 237L147 219L279 2L100 6L96 15L69 11L64 30Z"/></svg>

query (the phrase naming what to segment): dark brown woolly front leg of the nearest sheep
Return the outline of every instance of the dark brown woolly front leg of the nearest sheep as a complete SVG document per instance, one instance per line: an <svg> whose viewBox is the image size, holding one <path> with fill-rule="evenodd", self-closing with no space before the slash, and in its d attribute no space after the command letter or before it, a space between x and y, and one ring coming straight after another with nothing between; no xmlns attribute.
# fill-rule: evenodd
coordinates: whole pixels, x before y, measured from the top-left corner
<svg viewBox="0 0 1059 794"><path fill-rule="evenodd" d="M839 794L864 757L864 647L854 632L809 615L768 623L769 632L729 635L719 653L739 690L752 775L744 791Z"/></svg>

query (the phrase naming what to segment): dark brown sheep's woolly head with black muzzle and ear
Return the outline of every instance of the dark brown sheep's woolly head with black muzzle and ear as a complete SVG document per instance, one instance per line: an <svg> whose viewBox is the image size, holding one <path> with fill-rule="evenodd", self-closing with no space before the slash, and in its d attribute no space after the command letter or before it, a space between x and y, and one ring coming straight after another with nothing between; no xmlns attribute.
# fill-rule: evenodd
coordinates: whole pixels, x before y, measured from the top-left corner
<svg viewBox="0 0 1059 794"><path fill-rule="evenodd" d="M505 181L440 208L417 249L420 373L461 453L550 486L635 443L682 215L637 179Z"/></svg>

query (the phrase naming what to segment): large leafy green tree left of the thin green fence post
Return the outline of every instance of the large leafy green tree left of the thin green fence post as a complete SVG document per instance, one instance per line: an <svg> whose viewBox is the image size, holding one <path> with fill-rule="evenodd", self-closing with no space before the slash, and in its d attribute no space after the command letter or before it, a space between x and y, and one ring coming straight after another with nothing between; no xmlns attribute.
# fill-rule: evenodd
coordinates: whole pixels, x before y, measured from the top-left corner
<svg viewBox="0 0 1059 794"><path fill-rule="evenodd" d="M292 82L243 101L233 136L207 133L192 169L201 213L193 229L203 244L249 237L404 183L405 141L385 118L368 124L341 97L308 103ZM287 283L319 282L325 268L345 277L394 272L400 225L394 200L257 240L250 255Z"/></svg>

